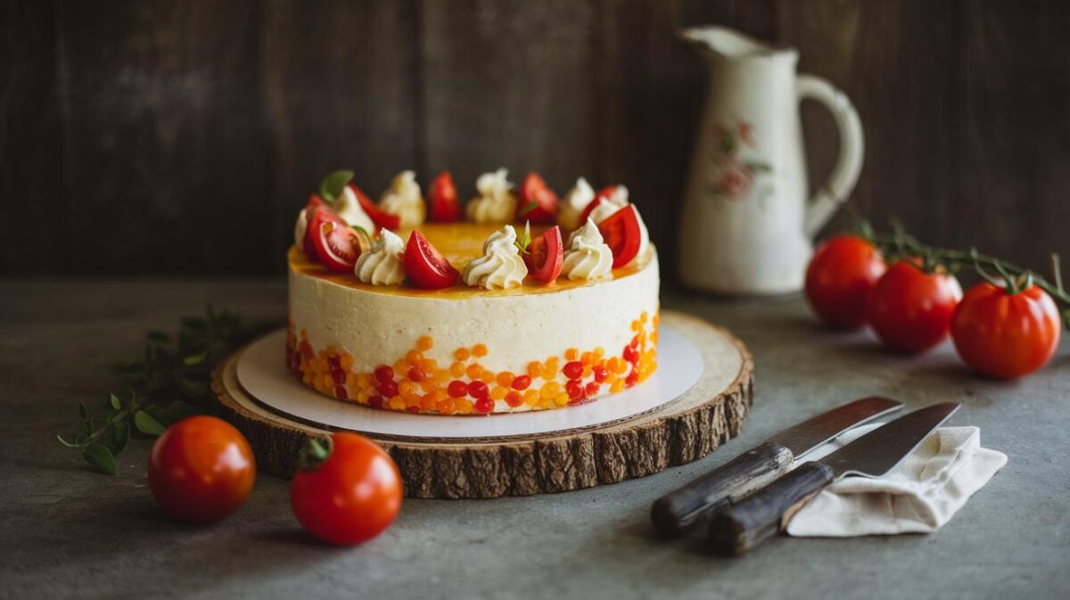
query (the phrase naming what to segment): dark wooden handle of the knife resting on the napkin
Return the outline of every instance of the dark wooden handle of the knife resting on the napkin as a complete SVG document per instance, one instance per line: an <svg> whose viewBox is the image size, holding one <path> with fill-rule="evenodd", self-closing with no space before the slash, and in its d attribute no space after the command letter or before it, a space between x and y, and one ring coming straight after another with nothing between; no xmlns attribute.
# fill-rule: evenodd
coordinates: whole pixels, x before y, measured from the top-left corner
<svg viewBox="0 0 1070 600"><path fill-rule="evenodd" d="M738 556L776 536L834 478L832 470L808 462L762 490L724 508L709 522L709 545L722 556Z"/></svg>

